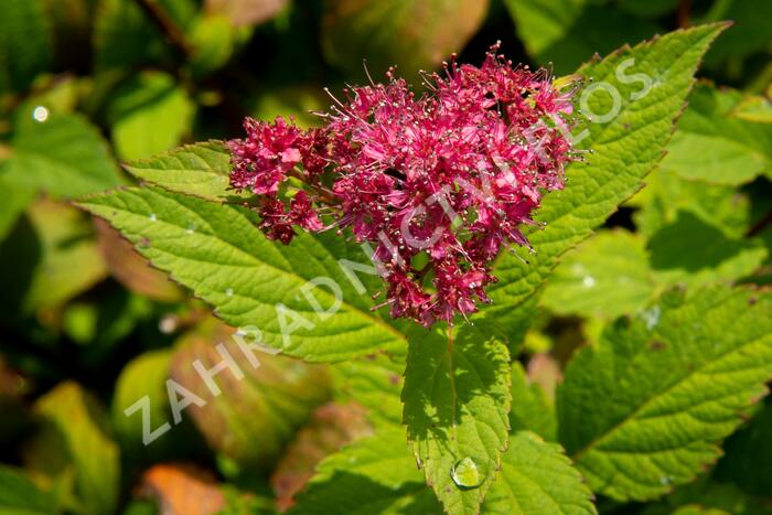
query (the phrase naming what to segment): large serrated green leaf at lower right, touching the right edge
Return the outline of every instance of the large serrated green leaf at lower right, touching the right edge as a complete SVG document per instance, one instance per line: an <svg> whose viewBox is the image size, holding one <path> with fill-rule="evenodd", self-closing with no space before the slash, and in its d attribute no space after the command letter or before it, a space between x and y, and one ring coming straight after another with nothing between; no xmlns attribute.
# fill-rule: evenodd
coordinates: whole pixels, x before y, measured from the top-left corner
<svg viewBox="0 0 772 515"><path fill-rule="evenodd" d="M671 292L609 326L558 388L560 441L590 486L648 500L719 455L772 378L772 294Z"/></svg>

